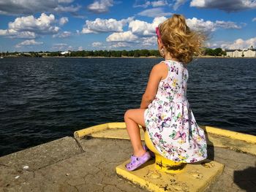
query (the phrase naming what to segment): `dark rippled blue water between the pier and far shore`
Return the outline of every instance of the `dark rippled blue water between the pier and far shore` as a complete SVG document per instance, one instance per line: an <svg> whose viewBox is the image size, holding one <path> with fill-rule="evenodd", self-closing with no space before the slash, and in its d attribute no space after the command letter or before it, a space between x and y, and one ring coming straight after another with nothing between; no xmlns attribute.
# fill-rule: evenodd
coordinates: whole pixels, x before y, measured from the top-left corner
<svg viewBox="0 0 256 192"><path fill-rule="evenodd" d="M159 58L0 60L0 156L124 121L140 107ZM189 65L188 99L197 123L256 135L256 59L200 58Z"/></svg>

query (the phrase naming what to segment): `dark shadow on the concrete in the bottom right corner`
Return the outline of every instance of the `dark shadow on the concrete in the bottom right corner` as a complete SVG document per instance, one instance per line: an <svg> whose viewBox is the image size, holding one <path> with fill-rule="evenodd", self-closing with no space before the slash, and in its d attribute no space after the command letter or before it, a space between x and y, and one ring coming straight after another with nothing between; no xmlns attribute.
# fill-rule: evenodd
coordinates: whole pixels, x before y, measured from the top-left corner
<svg viewBox="0 0 256 192"><path fill-rule="evenodd" d="M255 167L248 168L234 172L234 183L246 192L256 191L256 161Z"/></svg>

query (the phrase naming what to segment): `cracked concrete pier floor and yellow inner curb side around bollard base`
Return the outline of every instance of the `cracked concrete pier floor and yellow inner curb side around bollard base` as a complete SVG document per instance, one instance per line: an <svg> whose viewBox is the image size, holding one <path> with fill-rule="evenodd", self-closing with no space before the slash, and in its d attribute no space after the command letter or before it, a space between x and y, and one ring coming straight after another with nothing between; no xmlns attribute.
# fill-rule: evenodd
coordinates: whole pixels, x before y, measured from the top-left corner
<svg viewBox="0 0 256 192"><path fill-rule="evenodd" d="M124 125L113 125L1 157L0 191L148 191L116 174L132 147ZM249 138L208 133L208 158L225 167L205 191L256 191L256 137Z"/></svg>

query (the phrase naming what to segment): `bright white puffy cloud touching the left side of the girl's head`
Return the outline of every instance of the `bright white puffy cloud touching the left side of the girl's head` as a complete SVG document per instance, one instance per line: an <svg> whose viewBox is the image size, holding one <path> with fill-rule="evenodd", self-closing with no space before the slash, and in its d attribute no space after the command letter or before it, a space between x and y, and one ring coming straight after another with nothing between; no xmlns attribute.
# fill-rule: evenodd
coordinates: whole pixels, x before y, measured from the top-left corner
<svg viewBox="0 0 256 192"><path fill-rule="evenodd" d="M152 23L143 20L132 20L129 23L129 29L138 36L151 36L155 34L155 28L166 19L165 17L154 18Z"/></svg>

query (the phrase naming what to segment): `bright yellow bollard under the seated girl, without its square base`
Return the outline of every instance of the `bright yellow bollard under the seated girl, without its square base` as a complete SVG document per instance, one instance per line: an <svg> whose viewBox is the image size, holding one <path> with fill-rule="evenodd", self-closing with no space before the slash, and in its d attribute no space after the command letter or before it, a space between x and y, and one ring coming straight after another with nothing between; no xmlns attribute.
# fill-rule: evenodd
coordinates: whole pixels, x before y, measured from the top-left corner
<svg viewBox="0 0 256 192"><path fill-rule="evenodd" d="M171 161L170 159L167 159L159 154L159 152L151 142L151 139L149 138L147 131L144 134L144 138L148 149L151 150L154 153L154 155L156 155L155 166L158 170L167 173L176 173L184 170L187 164Z"/></svg>

